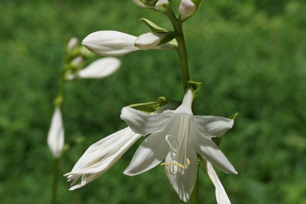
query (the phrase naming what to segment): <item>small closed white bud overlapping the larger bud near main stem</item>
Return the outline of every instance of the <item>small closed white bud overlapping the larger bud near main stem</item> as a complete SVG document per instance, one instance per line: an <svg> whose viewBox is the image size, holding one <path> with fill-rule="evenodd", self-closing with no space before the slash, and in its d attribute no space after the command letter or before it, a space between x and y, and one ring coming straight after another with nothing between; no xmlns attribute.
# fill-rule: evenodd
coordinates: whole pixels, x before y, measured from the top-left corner
<svg viewBox="0 0 306 204"><path fill-rule="evenodd" d="M167 35L167 33L145 33L136 38L135 45L140 50L149 50L158 45L160 41L163 40Z"/></svg>

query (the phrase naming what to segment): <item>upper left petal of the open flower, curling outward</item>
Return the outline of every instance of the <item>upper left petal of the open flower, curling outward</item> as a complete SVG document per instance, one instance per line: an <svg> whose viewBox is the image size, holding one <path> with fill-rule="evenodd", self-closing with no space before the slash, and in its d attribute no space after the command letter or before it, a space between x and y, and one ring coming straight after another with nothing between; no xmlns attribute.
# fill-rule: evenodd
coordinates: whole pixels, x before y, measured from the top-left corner
<svg viewBox="0 0 306 204"><path fill-rule="evenodd" d="M147 135L152 132L163 130L172 115L165 113L150 115L131 107L124 107L122 108L120 117L122 120L126 121L127 125L130 126L134 132L141 135Z"/></svg>

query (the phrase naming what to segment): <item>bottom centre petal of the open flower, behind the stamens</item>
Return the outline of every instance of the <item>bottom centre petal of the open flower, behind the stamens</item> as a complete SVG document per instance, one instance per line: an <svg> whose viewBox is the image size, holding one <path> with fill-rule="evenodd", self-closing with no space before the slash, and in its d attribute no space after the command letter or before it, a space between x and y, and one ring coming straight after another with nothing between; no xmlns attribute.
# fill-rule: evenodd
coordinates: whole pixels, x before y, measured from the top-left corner
<svg viewBox="0 0 306 204"><path fill-rule="evenodd" d="M180 173L175 173L174 175L171 175L170 173L167 173L169 172L167 168L171 168L171 166L165 166L166 175L169 178L172 187L178 194L179 198L184 202L189 201L192 190L194 189L194 184L197 179L198 171L197 153L195 152L191 141L188 142L187 158L189 159L190 164L188 168L185 169L184 175L180 175ZM173 159L171 158L169 153L166 157L165 162L169 163L170 161L173 161Z"/></svg>

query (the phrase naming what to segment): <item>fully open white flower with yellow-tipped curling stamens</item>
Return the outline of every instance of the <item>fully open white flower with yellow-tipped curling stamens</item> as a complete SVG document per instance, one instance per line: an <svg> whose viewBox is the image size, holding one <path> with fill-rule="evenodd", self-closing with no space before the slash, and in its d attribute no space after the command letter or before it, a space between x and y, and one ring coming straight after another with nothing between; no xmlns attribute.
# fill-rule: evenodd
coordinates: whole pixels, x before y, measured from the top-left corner
<svg viewBox="0 0 306 204"><path fill-rule="evenodd" d="M188 202L197 177L197 153L226 173L237 173L211 140L232 128L234 121L218 116L193 116L193 93L187 89L175 111L149 115L124 107L121 118L141 135L150 134L137 149L127 175L145 172L165 159L165 171L179 198Z"/></svg>

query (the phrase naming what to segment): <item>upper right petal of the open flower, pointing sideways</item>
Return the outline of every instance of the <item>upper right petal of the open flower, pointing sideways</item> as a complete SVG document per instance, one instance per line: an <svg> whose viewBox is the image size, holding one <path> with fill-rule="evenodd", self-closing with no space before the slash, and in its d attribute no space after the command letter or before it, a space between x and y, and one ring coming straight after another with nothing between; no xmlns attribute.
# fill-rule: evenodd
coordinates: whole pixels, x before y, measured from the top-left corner
<svg viewBox="0 0 306 204"><path fill-rule="evenodd" d="M234 120L220 116L193 116L196 129L209 138L220 137L234 125Z"/></svg>

